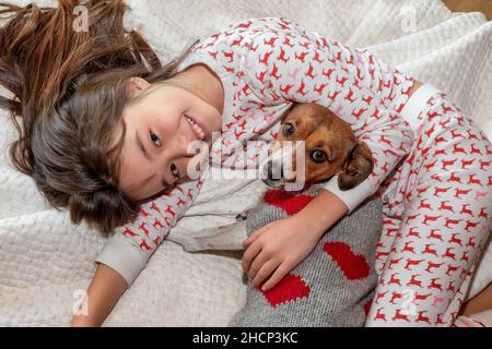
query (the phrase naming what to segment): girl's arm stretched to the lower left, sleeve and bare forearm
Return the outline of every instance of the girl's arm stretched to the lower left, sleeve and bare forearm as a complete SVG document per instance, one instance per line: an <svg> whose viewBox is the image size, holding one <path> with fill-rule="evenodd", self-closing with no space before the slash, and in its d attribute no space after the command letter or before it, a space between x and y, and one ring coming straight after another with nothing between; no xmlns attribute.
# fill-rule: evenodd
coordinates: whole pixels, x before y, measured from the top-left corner
<svg viewBox="0 0 492 349"><path fill-rule="evenodd" d="M118 299L145 267L172 227L192 204L201 181L190 181L142 205L136 222L116 230L96 258L87 290L89 315L74 316L72 326L99 326Z"/></svg>

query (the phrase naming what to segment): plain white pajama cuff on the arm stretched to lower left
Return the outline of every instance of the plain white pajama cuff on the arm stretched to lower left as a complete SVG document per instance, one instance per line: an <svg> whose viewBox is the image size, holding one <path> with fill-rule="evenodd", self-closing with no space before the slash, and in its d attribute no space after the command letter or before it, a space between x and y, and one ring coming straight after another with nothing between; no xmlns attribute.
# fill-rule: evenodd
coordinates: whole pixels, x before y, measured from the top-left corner
<svg viewBox="0 0 492 349"><path fill-rule="evenodd" d="M127 281L127 287L130 288L148 260L125 239L120 233L110 237L95 263L102 263L117 272Z"/></svg>

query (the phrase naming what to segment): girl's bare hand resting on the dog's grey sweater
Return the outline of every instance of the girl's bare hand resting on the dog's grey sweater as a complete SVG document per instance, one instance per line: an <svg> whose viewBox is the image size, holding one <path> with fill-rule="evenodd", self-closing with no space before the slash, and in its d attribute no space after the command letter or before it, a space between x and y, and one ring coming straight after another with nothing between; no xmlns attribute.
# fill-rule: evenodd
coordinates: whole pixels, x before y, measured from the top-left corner
<svg viewBox="0 0 492 349"><path fill-rule="evenodd" d="M258 287L270 276L261 287L262 291L268 291L304 261L320 238L319 231L313 229L316 228L303 216L295 215L272 221L246 239L243 269L253 287Z"/></svg>

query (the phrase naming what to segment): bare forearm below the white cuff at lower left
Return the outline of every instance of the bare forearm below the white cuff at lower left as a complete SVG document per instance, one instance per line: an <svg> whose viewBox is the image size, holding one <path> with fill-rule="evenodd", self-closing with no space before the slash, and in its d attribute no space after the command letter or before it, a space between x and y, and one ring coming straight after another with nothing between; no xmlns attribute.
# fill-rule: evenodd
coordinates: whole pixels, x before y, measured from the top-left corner
<svg viewBox="0 0 492 349"><path fill-rule="evenodd" d="M127 288L128 284L119 273L104 264L97 264L86 298L70 326L101 326Z"/></svg>

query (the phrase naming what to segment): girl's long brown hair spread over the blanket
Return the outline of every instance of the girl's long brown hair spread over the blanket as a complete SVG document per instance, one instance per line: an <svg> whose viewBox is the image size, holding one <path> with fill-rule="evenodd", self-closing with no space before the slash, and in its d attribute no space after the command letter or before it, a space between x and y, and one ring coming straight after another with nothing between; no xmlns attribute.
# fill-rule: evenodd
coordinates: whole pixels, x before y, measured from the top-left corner
<svg viewBox="0 0 492 349"><path fill-rule="evenodd" d="M130 8L122 0L89 0L89 31L74 31L75 0L58 8L0 2L0 96L19 140L10 146L13 165L34 178L56 207L71 220L85 220L102 232L134 221L139 202L119 188L118 160L126 127L121 115L131 104L128 80L150 83L176 75L191 51L162 67L155 51L124 27ZM115 146L114 132L122 129Z"/></svg>

